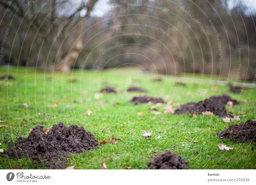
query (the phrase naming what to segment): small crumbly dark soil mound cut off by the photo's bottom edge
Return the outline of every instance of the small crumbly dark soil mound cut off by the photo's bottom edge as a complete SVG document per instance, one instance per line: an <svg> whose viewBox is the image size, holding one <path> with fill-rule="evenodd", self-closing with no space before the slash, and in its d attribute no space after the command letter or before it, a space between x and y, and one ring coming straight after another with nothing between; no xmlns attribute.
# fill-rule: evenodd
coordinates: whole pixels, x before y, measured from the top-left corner
<svg viewBox="0 0 256 185"><path fill-rule="evenodd" d="M188 169L187 164L187 160L182 159L176 153L171 153L169 150L158 154L148 163L150 169Z"/></svg>

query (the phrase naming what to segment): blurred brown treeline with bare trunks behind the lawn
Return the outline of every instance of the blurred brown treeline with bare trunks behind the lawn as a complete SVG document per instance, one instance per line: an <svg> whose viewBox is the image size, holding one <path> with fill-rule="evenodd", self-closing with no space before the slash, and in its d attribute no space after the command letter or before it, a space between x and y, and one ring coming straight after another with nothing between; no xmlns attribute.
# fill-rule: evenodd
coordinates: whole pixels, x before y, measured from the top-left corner
<svg viewBox="0 0 256 185"><path fill-rule="evenodd" d="M106 0L100 7L103 1L2 0L2 37L9 28L2 65L25 65L29 57L29 66L65 72L139 65L167 74L255 75L256 15L240 1Z"/></svg>

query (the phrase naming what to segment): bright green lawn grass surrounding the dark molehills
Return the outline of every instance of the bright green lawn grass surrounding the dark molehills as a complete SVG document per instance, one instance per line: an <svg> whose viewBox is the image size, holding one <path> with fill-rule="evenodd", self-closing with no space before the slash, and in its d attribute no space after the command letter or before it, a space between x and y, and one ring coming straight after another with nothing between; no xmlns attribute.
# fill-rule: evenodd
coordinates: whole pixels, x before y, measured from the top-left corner
<svg viewBox="0 0 256 185"><path fill-rule="evenodd" d="M1 148L6 150L7 144L3 143L5 134L9 140L16 140L19 136L27 137L30 129L36 125L50 127L62 121L65 125L76 124L84 126L87 131L92 132L96 139L108 140L114 134L116 138L121 137L116 144L107 143L98 149L83 154L70 154L67 166L76 164L76 169L100 169L100 163L105 161L108 169L124 169L131 166L132 169L145 169L150 158L157 153L163 153L166 149L177 153L189 161L191 169L255 169L256 153L255 146L249 143L232 143L232 141L221 141L216 132L224 130L232 124L244 123L247 119L255 119L256 94L251 89L244 89L241 94L229 93L229 87L218 86L214 92L212 85L200 85L187 83L186 86L175 86L175 77L166 78L162 82L154 82L154 74L138 75L130 70L122 73L124 69L108 69L102 71L74 70L70 74L52 74L38 71L35 68L0 68L0 74L13 75L17 79L8 80L12 86L0 84L0 125L8 127L0 128ZM70 79L76 79L70 82ZM216 77L215 77L216 79ZM6 80L1 79L3 82ZM25 82L28 83L27 92L24 92ZM95 99L95 93L109 83L117 89L118 94L104 94ZM141 93L125 93L128 85L135 85L147 89L147 95L170 98L166 101L187 103L200 101L212 95L221 95L222 92L229 94L241 103L234 108L228 108L235 115L243 111L246 116L240 121L224 123L220 117L198 115L155 115L148 109L152 105L132 105L129 101L133 96ZM208 90L205 90L208 89ZM249 98L248 102L244 102ZM74 103L74 100L77 103ZM106 102L101 104L102 101ZM114 103L119 102L119 105ZM23 107L28 104L28 109ZM57 103L57 107L49 107ZM163 106L157 109L163 112ZM177 106L174 108L178 108ZM87 109L91 109L91 115L85 115ZM138 112L143 112L138 116ZM49 116L45 116L45 114ZM51 117L56 117L52 119ZM165 120L159 120L164 117ZM26 124L27 127L22 126ZM177 125L165 132L173 125ZM109 128L106 130L106 128ZM209 132L211 128L211 132ZM126 134L126 132L130 132ZM143 138L141 134L151 132L150 138ZM157 139L157 136L161 136ZM233 147L233 150L219 151L218 144ZM182 146L184 145L184 146ZM173 148L176 146L177 148ZM43 164L33 163L26 158L7 159L0 153L0 168L13 169L44 169Z"/></svg>

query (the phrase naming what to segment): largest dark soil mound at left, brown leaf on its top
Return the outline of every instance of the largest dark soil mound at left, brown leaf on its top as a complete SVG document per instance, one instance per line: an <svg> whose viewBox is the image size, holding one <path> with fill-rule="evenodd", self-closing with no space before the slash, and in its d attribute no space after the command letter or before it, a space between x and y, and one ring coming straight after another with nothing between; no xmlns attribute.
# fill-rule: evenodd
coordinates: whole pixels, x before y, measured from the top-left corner
<svg viewBox="0 0 256 185"><path fill-rule="evenodd" d="M43 126L37 125L28 138L19 137L4 153L6 157L43 157L57 159L70 153L82 153L98 147L91 132L77 125L65 126L62 122L53 125L45 134Z"/></svg>

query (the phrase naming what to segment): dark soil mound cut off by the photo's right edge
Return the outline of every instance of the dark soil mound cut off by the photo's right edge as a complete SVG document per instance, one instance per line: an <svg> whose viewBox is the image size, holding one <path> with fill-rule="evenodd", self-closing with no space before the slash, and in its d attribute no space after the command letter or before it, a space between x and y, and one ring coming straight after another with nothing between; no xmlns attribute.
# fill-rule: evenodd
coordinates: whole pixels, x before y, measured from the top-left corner
<svg viewBox="0 0 256 185"><path fill-rule="evenodd" d="M233 142L250 142L256 145L256 120L248 119L244 124L230 125L225 131L216 133L220 138L233 139Z"/></svg>

